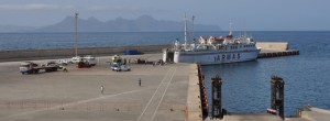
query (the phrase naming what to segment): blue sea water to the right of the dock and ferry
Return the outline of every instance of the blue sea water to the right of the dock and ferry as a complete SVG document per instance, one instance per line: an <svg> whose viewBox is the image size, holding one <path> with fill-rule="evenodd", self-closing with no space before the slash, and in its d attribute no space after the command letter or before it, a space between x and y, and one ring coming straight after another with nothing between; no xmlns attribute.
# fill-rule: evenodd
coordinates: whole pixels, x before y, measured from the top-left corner
<svg viewBox="0 0 330 121"><path fill-rule="evenodd" d="M271 76L276 75L285 81L285 116L295 116L296 108L306 105L330 110L330 32L257 34L260 41L285 40L300 55L204 66L208 102L211 77L220 75L223 108L231 112L265 112L271 106Z"/></svg>

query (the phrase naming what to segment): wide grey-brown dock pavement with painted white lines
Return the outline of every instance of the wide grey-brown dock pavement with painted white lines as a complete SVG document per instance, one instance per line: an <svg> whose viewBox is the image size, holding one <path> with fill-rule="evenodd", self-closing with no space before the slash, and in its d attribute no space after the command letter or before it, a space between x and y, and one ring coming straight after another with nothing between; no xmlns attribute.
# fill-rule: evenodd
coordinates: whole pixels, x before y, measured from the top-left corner
<svg viewBox="0 0 330 121"><path fill-rule="evenodd" d="M158 61L162 54L123 56ZM112 72L111 56L68 73L19 73L20 62L0 63L1 121L185 121L190 64L130 64ZM46 63L53 59L33 61ZM196 76L197 77L197 76ZM141 86L139 79L141 78ZM101 94L103 86L103 94Z"/></svg>

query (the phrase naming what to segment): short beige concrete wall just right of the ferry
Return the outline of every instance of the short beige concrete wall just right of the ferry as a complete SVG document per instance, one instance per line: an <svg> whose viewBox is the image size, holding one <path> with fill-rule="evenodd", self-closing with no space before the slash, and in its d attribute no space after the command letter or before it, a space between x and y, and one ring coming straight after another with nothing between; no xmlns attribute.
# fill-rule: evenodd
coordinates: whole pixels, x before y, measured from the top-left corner
<svg viewBox="0 0 330 121"><path fill-rule="evenodd" d="M262 47L262 50L273 50L273 51L288 50L287 42L256 42L256 46Z"/></svg>

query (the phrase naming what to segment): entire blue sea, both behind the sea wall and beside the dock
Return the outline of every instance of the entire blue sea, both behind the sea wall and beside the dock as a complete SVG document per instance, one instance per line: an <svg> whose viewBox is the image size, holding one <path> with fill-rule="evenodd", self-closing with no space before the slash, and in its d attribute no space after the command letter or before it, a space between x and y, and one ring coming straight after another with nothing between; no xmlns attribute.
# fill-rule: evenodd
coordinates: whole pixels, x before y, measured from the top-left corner
<svg viewBox="0 0 330 121"><path fill-rule="evenodd" d="M226 34L228 32L195 33L196 36ZM223 79L223 108L230 112L264 112L271 105L271 76L276 75L285 80L286 116L296 114L296 108L306 105L330 110L329 31L248 34L262 42L289 42L290 48L299 50L300 55L204 66L209 95L210 78L220 75ZM183 32L79 33L78 46L172 44L177 37L183 40ZM0 51L72 48L74 44L74 33L0 33Z"/></svg>

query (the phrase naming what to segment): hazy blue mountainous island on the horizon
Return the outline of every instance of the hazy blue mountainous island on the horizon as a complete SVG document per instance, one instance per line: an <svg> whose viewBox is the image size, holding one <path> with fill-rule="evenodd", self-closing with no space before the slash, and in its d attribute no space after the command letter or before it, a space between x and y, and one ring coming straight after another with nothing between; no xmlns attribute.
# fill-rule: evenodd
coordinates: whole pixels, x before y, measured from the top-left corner
<svg viewBox="0 0 330 121"><path fill-rule="evenodd" d="M189 25L191 23L188 23ZM189 26L188 25L188 26ZM221 31L218 25L195 24L195 31ZM156 20L150 15L128 20L117 18L106 22L90 16L78 20L79 32L182 32L184 21ZM75 32L75 18L66 16L53 25L32 28L16 25L0 25L0 32Z"/></svg>

